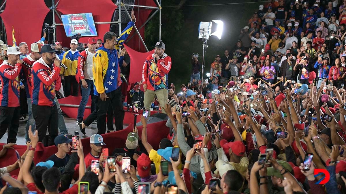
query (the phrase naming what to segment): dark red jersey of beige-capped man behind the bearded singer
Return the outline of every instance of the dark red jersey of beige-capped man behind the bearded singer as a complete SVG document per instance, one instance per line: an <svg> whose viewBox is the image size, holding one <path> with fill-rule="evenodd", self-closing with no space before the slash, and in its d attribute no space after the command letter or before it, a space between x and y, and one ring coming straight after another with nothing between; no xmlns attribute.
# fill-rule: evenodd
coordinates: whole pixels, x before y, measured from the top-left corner
<svg viewBox="0 0 346 194"><path fill-rule="evenodd" d="M24 62L27 64L33 66L35 60L31 58L31 53L23 59ZM25 86L25 92L26 92L26 97L31 98L31 90L32 90L32 84L31 84L31 68L26 65L22 65L22 74L21 74L21 79L23 79L23 84Z"/></svg>

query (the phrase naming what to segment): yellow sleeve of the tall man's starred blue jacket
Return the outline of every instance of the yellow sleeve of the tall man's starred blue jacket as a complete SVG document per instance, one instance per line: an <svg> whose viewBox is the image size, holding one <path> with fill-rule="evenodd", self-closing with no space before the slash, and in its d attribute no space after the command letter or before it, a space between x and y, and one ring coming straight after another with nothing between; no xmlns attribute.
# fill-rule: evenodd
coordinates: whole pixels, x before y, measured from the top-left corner
<svg viewBox="0 0 346 194"><path fill-rule="evenodd" d="M104 56L102 56L102 55L104 55ZM96 91L99 94L104 93L104 87L103 87L104 57L107 57L107 53L99 50L95 53L95 56L93 59L92 74L94 77L94 85L95 85ZM107 70L107 68L106 68L106 70Z"/></svg>

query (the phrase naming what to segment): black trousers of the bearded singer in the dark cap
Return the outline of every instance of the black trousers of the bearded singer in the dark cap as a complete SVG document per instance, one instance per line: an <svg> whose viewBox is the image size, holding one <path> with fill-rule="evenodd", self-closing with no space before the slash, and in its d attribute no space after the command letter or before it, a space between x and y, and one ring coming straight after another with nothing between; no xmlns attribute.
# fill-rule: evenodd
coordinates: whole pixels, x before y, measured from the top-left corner
<svg viewBox="0 0 346 194"><path fill-rule="evenodd" d="M45 139L48 128L48 140L45 140L43 145L54 145L54 138L58 136L58 109L56 105L39 106L33 104L33 116L38 130L38 142Z"/></svg>

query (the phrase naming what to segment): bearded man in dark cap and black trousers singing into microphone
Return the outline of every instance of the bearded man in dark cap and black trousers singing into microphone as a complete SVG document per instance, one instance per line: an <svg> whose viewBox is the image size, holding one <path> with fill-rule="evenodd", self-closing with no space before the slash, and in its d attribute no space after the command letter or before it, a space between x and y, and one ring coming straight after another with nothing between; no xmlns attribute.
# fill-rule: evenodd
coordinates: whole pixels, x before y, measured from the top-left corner
<svg viewBox="0 0 346 194"><path fill-rule="evenodd" d="M38 130L38 141L42 142L49 132L46 146L54 145L54 138L58 135L58 109L55 103L55 80L60 72L60 60L55 57L55 47L44 45L41 49L42 57L33 64L32 68L32 98L33 116Z"/></svg>

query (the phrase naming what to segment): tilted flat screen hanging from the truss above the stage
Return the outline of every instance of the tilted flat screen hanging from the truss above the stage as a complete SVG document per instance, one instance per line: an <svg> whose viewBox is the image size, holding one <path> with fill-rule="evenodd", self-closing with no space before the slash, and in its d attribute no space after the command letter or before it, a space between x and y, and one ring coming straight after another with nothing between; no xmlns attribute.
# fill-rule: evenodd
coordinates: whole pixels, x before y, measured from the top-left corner
<svg viewBox="0 0 346 194"><path fill-rule="evenodd" d="M66 36L80 33L82 36L97 36L92 13L76 13L61 15Z"/></svg>

